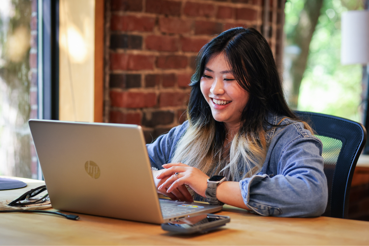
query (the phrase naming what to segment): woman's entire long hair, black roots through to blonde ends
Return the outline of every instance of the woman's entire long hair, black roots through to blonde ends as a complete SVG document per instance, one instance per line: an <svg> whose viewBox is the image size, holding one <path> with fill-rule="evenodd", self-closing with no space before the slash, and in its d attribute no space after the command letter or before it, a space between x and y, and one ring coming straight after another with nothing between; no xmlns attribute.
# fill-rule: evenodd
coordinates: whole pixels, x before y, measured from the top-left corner
<svg viewBox="0 0 369 246"><path fill-rule="evenodd" d="M215 121L200 90L200 79L208 60L220 53L230 64L239 86L249 93L241 114L241 127L232 136L227 158L224 158L227 136L224 123ZM172 162L197 167L208 175L222 173L233 181L252 176L265 160L268 113L297 119L284 99L272 50L254 28L232 28L208 42L197 55L197 68L190 86L189 127L177 143Z"/></svg>

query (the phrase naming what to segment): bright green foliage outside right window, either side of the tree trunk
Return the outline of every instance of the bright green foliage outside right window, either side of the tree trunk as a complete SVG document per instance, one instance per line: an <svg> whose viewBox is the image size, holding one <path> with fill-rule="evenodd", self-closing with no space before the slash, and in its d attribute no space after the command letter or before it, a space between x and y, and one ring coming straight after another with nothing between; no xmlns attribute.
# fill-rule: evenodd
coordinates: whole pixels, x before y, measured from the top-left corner
<svg viewBox="0 0 369 246"><path fill-rule="evenodd" d="M362 9L357 0L324 0L309 47L297 109L361 121L361 65L340 63L341 14ZM286 45L300 18L304 0L288 0L285 7Z"/></svg>

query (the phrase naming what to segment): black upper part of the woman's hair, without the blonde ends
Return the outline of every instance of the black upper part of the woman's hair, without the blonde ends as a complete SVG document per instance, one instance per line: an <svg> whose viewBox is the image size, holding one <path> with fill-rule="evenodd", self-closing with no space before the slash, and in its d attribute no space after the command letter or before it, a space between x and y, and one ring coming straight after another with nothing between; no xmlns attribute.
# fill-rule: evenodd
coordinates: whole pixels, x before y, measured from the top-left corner
<svg viewBox="0 0 369 246"><path fill-rule="evenodd" d="M197 55L196 72L191 79L188 117L191 121L211 121L211 109L200 90L200 79L208 60L224 53L233 76L249 93L241 116L242 132L258 132L265 127L269 112L296 119L283 96L282 80L265 38L254 28L236 27L208 42Z"/></svg>

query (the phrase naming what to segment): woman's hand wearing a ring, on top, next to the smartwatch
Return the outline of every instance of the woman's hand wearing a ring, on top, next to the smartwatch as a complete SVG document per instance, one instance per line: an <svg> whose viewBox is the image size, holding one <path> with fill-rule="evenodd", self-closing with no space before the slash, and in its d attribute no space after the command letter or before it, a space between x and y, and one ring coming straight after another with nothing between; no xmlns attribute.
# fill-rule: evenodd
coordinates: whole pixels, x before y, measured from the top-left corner
<svg viewBox="0 0 369 246"><path fill-rule="evenodd" d="M173 192L176 188L187 185L197 194L205 197L207 188L207 179L209 178L205 173L196 167L190 167L183 163L168 163L164 164L163 171L156 176L156 179L166 179L159 189L168 188L166 192ZM175 173L178 174L178 179Z"/></svg>

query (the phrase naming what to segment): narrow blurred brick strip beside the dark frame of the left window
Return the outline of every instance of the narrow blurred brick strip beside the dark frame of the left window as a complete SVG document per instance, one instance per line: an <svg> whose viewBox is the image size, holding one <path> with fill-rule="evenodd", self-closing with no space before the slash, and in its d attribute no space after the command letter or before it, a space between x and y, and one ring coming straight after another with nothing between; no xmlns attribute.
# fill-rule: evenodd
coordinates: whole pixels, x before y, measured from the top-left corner
<svg viewBox="0 0 369 246"><path fill-rule="evenodd" d="M30 119L38 118L38 99L37 99L37 0L31 0L31 49L30 49L30 106L31 113ZM32 179L37 179L37 166L38 159L36 154L36 149L31 138L31 177Z"/></svg>

